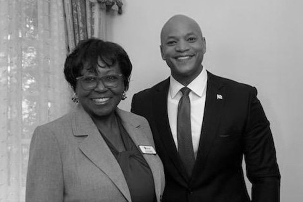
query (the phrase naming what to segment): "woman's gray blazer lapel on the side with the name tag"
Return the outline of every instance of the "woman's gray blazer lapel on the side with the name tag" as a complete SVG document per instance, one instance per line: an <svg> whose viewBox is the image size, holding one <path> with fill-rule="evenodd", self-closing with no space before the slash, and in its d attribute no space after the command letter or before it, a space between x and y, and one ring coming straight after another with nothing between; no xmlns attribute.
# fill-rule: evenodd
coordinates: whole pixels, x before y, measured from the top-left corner
<svg viewBox="0 0 303 202"><path fill-rule="evenodd" d="M128 132L128 135L132 138L132 140L134 141L137 147L139 145L148 145L155 147L155 145L148 140L148 137L146 136L146 131L145 129L141 128L140 125L141 121L138 120L138 118L130 115L130 113L128 112L120 110L119 108L117 108L116 112L118 116L121 118L123 127ZM150 135L152 136L152 134ZM139 147L138 150L140 151ZM164 177L161 176L161 170L158 167L160 160L156 161L155 156L150 154L143 155L143 157L148 163L151 172L153 174L154 184L155 184L155 194L157 199L159 199L161 195L161 186L162 186L161 177Z"/></svg>

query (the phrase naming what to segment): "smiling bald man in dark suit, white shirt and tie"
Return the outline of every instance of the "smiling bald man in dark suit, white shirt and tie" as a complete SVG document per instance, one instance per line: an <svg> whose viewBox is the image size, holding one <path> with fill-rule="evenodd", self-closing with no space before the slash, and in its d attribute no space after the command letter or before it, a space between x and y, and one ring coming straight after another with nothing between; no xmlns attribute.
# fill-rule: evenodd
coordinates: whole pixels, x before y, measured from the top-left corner
<svg viewBox="0 0 303 202"><path fill-rule="evenodd" d="M132 112L151 126L165 169L163 201L279 201L274 142L256 88L206 71L205 38L187 16L165 23L160 48L171 76L135 94Z"/></svg>

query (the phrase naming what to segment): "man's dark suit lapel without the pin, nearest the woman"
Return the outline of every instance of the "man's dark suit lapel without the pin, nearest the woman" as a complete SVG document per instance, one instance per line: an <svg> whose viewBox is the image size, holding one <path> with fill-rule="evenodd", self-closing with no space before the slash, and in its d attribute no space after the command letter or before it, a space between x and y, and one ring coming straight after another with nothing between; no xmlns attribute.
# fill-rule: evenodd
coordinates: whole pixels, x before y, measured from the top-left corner
<svg viewBox="0 0 303 202"><path fill-rule="evenodd" d="M180 175L184 178L184 180L188 181L189 177L187 176L186 169L183 166L183 163L179 157L169 126L167 114L168 88L169 78L167 78L161 86L158 86L158 88L154 92L153 117L158 129L158 134L154 135L159 136L158 138L160 138L163 145L165 145L166 153L171 158L176 169L179 171Z"/></svg>

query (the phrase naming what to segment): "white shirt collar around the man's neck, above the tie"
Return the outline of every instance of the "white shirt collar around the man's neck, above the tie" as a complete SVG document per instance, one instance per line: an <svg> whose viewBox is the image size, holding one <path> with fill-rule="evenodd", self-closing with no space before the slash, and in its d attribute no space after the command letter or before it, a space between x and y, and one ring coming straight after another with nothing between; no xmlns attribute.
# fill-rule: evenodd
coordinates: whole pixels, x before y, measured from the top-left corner
<svg viewBox="0 0 303 202"><path fill-rule="evenodd" d="M193 81L191 81L187 85L187 87L191 89L191 91L194 92L196 95L201 97L206 87L206 83L207 83L207 72L205 67L203 66L203 69L200 72L200 74ZM169 92L172 99L175 98L176 94L183 87L185 86L179 83L174 77L170 76Z"/></svg>

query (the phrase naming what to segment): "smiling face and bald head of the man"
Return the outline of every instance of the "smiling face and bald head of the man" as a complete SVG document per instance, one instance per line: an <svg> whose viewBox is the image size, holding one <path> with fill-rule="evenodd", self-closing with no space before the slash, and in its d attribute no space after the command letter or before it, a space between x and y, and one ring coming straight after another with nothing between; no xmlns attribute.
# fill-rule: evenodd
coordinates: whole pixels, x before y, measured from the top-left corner
<svg viewBox="0 0 303 202"><path fill-rule="evenodd" d="M205 39L197 23L190 18L172 19L161 32L161 55L171 75L187 85L202 71Z"/></svg>

